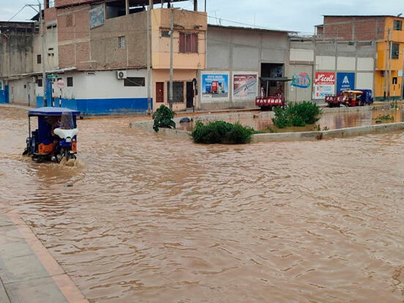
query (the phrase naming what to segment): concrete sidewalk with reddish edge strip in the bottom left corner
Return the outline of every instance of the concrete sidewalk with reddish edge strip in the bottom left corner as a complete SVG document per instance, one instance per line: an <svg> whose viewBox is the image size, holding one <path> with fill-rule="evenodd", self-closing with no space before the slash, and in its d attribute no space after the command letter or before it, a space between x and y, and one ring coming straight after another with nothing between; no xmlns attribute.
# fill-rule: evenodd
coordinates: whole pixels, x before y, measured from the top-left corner
<svg viewBox="0 0 404 303"><path fill-rule="evenodd" d="M0 302L88 303L15 213L0 214Z"/></svg>

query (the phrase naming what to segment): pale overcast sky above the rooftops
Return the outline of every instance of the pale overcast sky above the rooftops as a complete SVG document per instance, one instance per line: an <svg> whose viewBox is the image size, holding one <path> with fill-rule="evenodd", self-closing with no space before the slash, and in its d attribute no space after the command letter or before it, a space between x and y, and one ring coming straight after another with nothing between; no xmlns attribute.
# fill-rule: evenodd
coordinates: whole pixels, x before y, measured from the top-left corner
<svg viewBox="0 0 404 303"><path fill-rule="evenodd" d="M29 20L35 12L23 7L37 3L38 0L0 0L0 21ZM302 34L313 33L314 26L323 23L323 15L404 14L402 0L206 0L206 3L209 24L256 26ZM174 6L192 10L193 1ZM198 6L199 11L204 11L205 0L198 0ZM13 17L15 14L17 16Z"/></svg>

